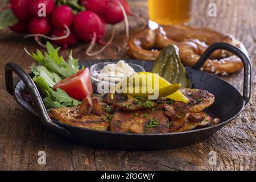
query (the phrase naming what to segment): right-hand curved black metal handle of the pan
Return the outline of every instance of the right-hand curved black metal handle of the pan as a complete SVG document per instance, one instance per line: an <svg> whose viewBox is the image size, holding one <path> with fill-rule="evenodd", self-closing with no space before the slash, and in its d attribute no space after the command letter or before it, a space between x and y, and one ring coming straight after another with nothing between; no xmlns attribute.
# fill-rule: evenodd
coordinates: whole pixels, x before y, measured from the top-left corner
<svg viewBox="0 0 256 182"><path fill-rule="evenodd" d="M209 46L209 48L201 55L200 59L193 66L194 69L200 69L203 67L205 61L208 60L209 56L212 55L217 49L224 49L226 51L232 52L234 55L238 56L243 63L243 100L245 100L245 105L249 102L251 97L251 60L246 55L242 49L233 46L228 43L215 43Z"/></svg>

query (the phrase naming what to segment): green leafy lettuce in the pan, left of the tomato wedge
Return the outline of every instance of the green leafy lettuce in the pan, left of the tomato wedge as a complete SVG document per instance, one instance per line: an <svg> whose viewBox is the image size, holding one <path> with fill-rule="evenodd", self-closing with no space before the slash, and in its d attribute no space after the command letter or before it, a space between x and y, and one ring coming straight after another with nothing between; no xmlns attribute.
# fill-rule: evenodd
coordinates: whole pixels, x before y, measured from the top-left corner
<svg viewBox="0 0 256 182"><path fill-rule="evenodd" d="M44 54L37 49L36 53L30 54L26 49L25 51L37 63L32 64L31 70L34 73L33 80L37 86L43 90L45 98L44 104L48 109L77 106L81 102L68 96L68 94L57 88L53 90L53 85L65 77L73 75L79 71L78 59L72 57L72 51L69 54L68 61L59 56L60 48L54 48L51 43L47 42L47 52Z"/></svg>

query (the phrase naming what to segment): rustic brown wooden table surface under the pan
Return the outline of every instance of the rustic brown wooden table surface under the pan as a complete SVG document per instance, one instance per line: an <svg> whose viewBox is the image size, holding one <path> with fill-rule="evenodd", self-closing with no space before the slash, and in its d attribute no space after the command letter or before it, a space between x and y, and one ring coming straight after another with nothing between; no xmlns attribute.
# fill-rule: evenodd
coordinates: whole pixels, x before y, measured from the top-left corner
<svg viewBox="0 0 256 182"><path fill-rule="evenodd" d="M208 16L210 2L217 4L217 17ZM130 1L131 9L147 18L146 1ZM192 25L207 26L240 39L256 65L256 1L255 0L195 0ZM139 21L129 18L130 30L136 33ZM123 24L119 24L114 42L125 43ZM110 29L111 27L109 27ZM42 127L39 119L24 111L5 89L5 64L20 65L27 72L32 60L24 47L33 52L39 48L32 39L9 30L0 31L0 169L1 170L255 170L256 169L256 96L255 71L251 100L242 114L212 137L175 150L126 152L104 150L70 142ZM80 59L127 58L125 51L117 55L112 47L100 55L86 57L87 45L80 43L73 56ZM42 48L40 48L42 49ZM67 56L70 49L61 50ZM222 77L236 88L242 88L243 72ZM230 98L232 99L232 98ZM46 165L38 164L38 152L46 151ZM217 164L210 165L209 152L217 154Z"/></svg>

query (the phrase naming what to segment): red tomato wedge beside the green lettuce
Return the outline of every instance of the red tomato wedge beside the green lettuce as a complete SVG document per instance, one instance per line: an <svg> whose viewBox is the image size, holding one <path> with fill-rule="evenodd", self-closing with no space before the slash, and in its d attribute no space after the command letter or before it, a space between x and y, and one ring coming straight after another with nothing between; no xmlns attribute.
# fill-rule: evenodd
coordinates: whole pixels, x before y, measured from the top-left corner
<svg viewBox="0 0 256 182"><path fill-rule="evenodd" d="M93 86L90 80L90 71L88 68L64 78L53 86L53 89L60 88L67 94L77 100L84 100L88 95L92 95Z"/></svg>

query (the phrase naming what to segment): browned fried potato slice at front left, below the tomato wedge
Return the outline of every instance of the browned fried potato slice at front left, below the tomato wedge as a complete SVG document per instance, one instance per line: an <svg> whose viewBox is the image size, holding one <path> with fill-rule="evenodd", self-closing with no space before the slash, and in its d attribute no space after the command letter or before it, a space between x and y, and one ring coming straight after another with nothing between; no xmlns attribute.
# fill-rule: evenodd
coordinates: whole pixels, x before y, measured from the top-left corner
<svg viewBox="0 0 256 182"><path fill-rule="evenodd" d="M100 117L94 114L79 114L79 106L52 109L51 114L56 120L68 125L104 131L109 129L108 117Z"/></svg>

